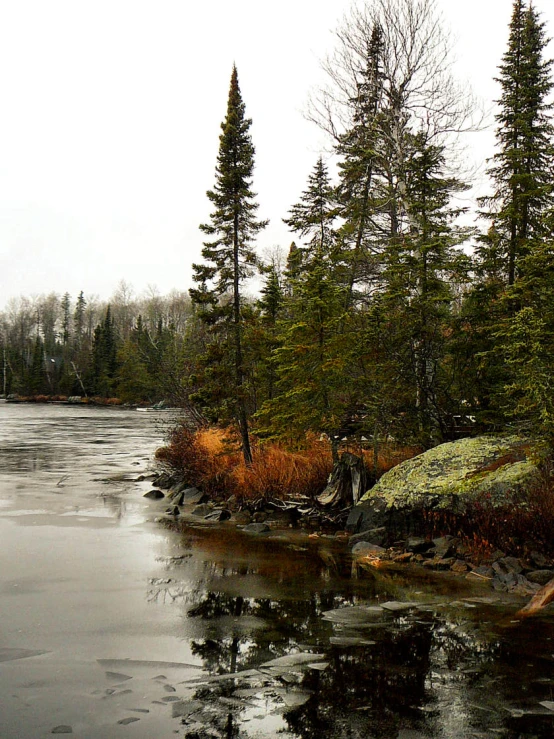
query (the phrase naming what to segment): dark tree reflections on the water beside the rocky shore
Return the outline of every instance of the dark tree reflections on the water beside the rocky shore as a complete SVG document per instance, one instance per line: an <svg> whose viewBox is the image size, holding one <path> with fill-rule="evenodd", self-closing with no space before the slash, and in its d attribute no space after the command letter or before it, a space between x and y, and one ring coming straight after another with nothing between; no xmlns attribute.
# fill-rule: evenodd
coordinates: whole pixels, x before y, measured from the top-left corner
<svg viewBox="0 0 554 739"><path fill-rule="evenodd" d="M537 639L537 622L510 623L513 607L463 580L405 570L352 579L333 542L212 530L183 543L203 552L195 587L176 584L192 564L183 555L149 591L171 593L187 634L197 631L206 674L176 706L183 736L554 735L549 617Z"/></svg>

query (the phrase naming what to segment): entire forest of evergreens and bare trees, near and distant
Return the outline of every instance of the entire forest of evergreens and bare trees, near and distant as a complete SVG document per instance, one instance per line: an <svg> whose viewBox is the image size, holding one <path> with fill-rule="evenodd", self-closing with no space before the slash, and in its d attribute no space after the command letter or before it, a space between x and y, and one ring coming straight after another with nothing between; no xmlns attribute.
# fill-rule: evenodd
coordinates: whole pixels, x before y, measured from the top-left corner
<svg viewBox="0 0 554 739"><path fill-rule="evenodd" d="M0 313L4 394L161 399L252 441L326 435L428 448L461 434L554 435L552 62L515 0L499 60L488 194L459 139L481 125L451 76L433 0L368 0L311 99L328 134L260 257L255 148L236 68L190 295L50 294ZM492 101L487 101L490 104ZM252 282L254 279L254 282ZM259 289L256 288L259 286Z"/></svg>

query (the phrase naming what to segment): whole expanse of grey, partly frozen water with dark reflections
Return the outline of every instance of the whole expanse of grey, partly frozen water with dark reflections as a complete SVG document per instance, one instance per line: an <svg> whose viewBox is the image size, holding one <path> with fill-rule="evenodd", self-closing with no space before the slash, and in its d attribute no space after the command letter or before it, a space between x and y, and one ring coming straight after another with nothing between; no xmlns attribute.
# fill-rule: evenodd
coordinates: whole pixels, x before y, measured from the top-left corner
<svg viewBox="0 0 554 739"><path fill-rule="evenodd" d="M178 534L163 428L0 403L0 738L554 736L554 610L352 567L294 531Z"/></svg>

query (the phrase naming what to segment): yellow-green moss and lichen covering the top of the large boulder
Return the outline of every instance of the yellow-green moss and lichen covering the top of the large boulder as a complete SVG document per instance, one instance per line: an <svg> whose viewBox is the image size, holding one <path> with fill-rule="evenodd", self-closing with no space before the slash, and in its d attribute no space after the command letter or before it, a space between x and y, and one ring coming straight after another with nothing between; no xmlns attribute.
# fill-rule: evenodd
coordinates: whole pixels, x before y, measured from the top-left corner
<svg viewBox="0 0 554 739"><path fill-rule="evenodd" d="M493 504L528 488L539 453L519 436L480 436L441 444L387 472L362 500L389 506L453 503L490 494Z"/></svg>

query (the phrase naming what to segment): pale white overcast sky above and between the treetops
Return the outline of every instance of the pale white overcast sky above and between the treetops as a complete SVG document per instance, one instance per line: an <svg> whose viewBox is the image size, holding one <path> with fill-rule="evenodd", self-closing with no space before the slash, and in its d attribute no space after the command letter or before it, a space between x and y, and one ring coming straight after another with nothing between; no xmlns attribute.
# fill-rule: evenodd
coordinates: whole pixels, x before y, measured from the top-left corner
<svg viewBox="0 0 554 739"><path fill-rule="evenodd" d="M281 219L321 146L302 115L348 0L0 0L0 307L191 284L236 63L253 119L254 189ZM438 0L458 75L487 101L511 0ZM554 34L554 3L536 6ZM493 138L475 135L477 158Z"/></svg>

